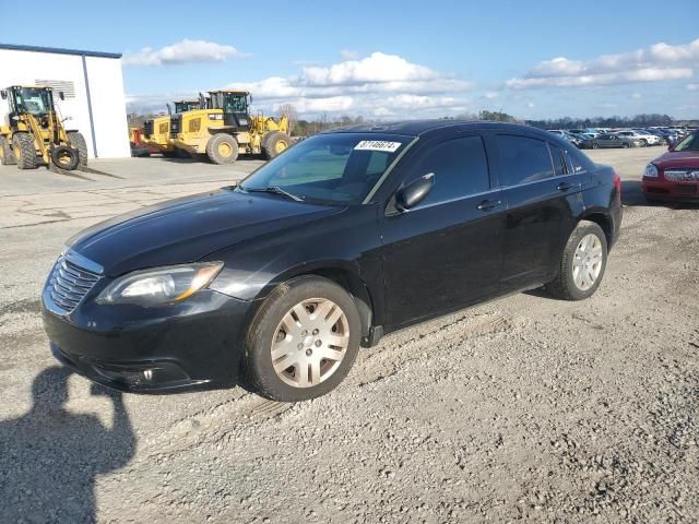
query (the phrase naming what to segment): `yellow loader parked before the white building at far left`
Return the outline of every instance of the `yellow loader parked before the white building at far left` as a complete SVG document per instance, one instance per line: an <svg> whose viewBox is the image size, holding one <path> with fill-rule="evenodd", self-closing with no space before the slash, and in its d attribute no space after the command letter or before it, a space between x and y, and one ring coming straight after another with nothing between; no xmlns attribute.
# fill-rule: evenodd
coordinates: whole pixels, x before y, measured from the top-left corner
<svg viewBox="0 0 699 524"><path fill-rule="evenodd" d="M0 124L0 163L34 169L55 164L66 170L87 165L87 144L66 130L50 87L13 85L0 92L10 111ZM63 94L59 93L60 99Z"/></svg>

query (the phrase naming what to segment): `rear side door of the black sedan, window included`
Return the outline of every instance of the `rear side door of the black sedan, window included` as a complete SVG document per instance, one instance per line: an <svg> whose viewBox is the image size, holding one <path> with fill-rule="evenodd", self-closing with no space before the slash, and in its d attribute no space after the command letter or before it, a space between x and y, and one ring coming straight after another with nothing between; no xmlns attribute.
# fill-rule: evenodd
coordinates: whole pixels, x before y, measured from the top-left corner
<svg viewBox="0 0 699 524"><path fill-rule="evenodd" d="M530 135L496 134L490 146L507 202L502 288L543 283L582 205L580 174L557 144Z"/></svg>

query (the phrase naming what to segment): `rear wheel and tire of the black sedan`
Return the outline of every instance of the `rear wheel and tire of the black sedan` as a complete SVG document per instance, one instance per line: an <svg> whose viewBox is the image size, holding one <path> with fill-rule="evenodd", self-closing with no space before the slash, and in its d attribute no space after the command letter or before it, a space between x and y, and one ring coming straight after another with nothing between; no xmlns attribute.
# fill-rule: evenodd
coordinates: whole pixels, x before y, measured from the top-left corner
<svg viewBox="0 0 699 524"><path fill-rule="evenodd" d="M590 243L590 238L594 238L595 243ZM583 246L583 240L585 245ZM583 248L581 250L581 248ZM582 253L582 261L580 255ZM590 265L585 266L587 253L591 253ZM578 254L578 257L577 257ZM599 258L597 258L599 257ZM596 263L594 261L597 261ZM599 265L597 265L599 264ZM545 287L549 295L560 300L583 300L594 295L600 287L607 266L607 239L602 228L594 222L581 221L576 229L570 234L566 248L560 258L558 275ZM588 285L577 283L578 275L589 275L585 267L594 275L588 278ZM580 281L579 281L580 282ZM584 279L583 279L584 283Z"/></svg>

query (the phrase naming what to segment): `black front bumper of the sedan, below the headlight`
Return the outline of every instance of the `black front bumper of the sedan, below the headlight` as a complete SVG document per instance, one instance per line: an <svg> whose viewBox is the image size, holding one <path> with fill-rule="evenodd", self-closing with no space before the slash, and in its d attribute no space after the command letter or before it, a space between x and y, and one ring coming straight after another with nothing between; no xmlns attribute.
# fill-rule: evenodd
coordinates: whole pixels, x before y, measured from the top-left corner
<svg viewBox="0 0 699 524"><path fill-rule="evenodd" d="M63 365L120 391L236 384L254 302L204 289L162 307L99 306L91 299L98 291L70 313L52 302L50 293L42 297L51 352Z"/></svg>

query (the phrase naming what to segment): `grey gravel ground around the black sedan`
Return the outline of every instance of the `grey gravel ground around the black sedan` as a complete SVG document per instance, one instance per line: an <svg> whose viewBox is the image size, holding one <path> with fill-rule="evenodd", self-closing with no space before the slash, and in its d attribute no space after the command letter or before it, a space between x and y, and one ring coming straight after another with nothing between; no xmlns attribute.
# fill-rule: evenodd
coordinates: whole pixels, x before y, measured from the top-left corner
<svg viewBox="0 0 699 524"><path fill-rule="evenodd" d="M56 366L37 312L72 233L256 163L5 183L0 522L697 522L699 207L639 198L659 148L593 153L627 204L593 298L521 294L404 330L295 405L108 394Z"/></svg>

